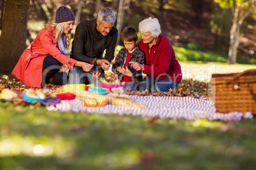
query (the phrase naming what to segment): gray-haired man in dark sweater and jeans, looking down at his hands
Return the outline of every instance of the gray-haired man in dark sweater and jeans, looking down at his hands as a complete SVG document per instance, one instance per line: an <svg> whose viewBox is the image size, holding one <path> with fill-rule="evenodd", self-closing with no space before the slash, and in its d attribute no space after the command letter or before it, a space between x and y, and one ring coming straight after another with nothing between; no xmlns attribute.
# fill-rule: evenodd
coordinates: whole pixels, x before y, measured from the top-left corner
<svg viewBox="0 0 256 170"><path fill-rule="evenodd" d="M110 8L99 11L97 19L83 20L76 27L71 58L90 63L85 72L82 67L69 70L69 84L83 84L87 78L90 84L101 86L99 78L110 68L117 43L117 28L114 27L115 13ZM104 50L106 49L103 58Z"/></svg>

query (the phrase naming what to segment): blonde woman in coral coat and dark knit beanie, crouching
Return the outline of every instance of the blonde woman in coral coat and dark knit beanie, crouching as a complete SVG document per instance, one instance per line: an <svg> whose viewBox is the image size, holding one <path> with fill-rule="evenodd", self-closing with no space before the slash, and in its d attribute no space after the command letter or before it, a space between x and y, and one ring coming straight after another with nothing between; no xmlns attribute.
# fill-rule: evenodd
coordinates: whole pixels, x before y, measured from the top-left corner
<svg viewBox="0 0 256 170"><path fill-rule="evenodd" d="M20 56L11 74L24 82L25 86L44 88L48 82L57 85L68 82L66 72L60 72L62 64L68 68L80 66L89 71L93 65L78 62L67 56L74 22L73 12L65 6L60 6L56 11L55 23L46 25L39 31L34 41Z"/></svg>

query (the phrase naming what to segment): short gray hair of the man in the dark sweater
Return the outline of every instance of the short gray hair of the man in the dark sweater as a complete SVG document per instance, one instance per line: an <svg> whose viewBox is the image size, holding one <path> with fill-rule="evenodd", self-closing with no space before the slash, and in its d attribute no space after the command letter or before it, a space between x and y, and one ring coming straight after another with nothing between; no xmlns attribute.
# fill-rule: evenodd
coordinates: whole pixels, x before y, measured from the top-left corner
<svg viewBox="0 0 256 170"><path fill-rule="evenodd" d="M115 23L115 12L110 8L103 8L99 10L97 19L100 23L103 21L106 23Z"/></svg>

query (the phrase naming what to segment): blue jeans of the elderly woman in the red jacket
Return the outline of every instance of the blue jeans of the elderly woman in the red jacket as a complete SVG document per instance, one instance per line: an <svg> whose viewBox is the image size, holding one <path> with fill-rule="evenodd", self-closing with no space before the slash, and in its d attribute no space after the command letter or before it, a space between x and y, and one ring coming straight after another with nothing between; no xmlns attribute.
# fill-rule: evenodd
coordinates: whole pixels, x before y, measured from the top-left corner
<svg viewBox="0 0 256 170"><path fill-rule="evenodd" d="M160 92L168 92L169 89L174 89L180 84L180 82L173 81L171 79L162 79L159 80L152 75L146 75L145 79L139 82L138 89L139 91L153 90L157 91L159 89Z"/></svg>

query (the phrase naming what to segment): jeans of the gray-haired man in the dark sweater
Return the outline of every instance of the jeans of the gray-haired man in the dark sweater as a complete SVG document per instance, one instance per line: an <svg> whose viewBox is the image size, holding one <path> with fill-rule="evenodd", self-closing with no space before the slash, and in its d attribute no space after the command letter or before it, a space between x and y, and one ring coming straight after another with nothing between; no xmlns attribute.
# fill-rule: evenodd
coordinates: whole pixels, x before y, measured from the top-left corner
<svg viewBox="0 0 256 170"><path fill-rule="evenodd" d="M94 84L94 86L101 87L101 81L92 77L92 72L99 68L99 66L94 66L89 72L85 72L82 67L78 66L74 67L74 69L70 69L68 84L84 84L85 79L87 79L89 84ZM104 72L102 72L101 75L105 77Z"/></svg>

